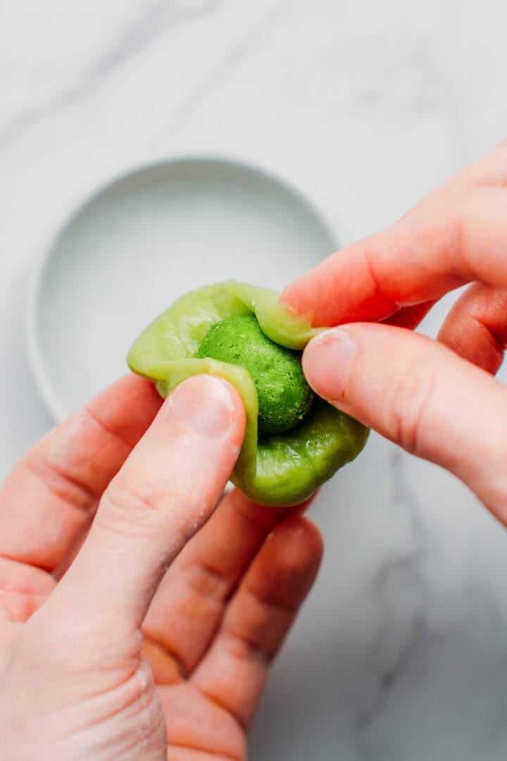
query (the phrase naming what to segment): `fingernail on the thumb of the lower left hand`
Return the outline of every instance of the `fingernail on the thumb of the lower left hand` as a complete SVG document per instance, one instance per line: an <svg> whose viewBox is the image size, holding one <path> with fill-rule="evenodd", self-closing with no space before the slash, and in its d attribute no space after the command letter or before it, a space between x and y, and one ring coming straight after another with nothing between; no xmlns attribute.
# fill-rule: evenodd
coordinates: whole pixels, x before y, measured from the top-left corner
<svg viewBox="0 0 507 761"><path fill-rule="evenodd" d="M234 422L234 406L225 385L211 375L189 378L176 388L169 398L173 420L186 428L219 438Z"/></svg>

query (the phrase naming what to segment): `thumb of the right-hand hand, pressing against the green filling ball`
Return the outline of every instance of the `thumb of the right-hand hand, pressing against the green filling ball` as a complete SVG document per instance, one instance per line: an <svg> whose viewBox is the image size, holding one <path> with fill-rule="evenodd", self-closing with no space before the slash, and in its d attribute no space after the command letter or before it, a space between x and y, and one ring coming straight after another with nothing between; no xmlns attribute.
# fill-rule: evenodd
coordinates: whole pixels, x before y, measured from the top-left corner
<svg viewBox="0 0 507 761"><path fill-rule="evenodd" d="M507 390L450 349L354 323L306 346L309 384L334 406L464 481L507 524Z"/></svg>

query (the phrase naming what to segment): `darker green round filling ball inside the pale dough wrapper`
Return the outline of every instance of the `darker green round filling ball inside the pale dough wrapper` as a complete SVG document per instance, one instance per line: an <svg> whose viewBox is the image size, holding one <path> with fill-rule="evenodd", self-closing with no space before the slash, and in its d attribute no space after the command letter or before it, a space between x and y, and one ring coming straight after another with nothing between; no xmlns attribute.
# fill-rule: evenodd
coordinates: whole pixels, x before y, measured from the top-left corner
<svg viewBox="0 0 507 761"><path fill-rule="evenodd" d="M301 369L301 352L268 339L253 315L212 325L195 356L249 371L257 389L259 434L290 431L312 406L314 394Z"/></svg>

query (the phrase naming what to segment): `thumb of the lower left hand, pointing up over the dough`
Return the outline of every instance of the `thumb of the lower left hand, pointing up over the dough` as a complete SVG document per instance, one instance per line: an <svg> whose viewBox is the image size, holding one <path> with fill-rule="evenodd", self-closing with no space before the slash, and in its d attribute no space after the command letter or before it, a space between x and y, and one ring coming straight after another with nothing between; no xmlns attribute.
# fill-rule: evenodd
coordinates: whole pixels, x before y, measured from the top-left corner
<svg viewBox="0 0 507 761"><path fill-rule="evenodd" d="M163 572L217 505L244 425L229 384L209 375L180 384L106 489L48 600L53 612L72 611L94 634L138 629Z"/></svg>

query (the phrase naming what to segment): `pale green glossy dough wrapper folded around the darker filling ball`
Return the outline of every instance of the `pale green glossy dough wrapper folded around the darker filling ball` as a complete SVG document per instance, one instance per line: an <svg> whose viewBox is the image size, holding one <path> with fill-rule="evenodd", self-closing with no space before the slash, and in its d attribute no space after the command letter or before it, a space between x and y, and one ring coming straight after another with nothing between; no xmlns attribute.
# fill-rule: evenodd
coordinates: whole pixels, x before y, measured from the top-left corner
<svg viewBox="0 0 507 761"><path fill-rule="evenodd" d="M272 342L302 351L319 330L278 301L276 291L235 281L182 296L160 314L128 352L132 371L149 378L164 398L191 375L211 373L232 383L246 410L246 432L232 482L261 505L290 507L353 460L368 429L322 399L288 431L258 436L258 393L246 368L198 357L208 330L234 317L252 317Z"/></svg>

